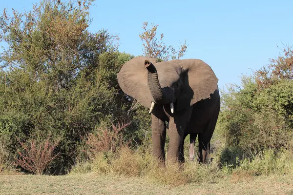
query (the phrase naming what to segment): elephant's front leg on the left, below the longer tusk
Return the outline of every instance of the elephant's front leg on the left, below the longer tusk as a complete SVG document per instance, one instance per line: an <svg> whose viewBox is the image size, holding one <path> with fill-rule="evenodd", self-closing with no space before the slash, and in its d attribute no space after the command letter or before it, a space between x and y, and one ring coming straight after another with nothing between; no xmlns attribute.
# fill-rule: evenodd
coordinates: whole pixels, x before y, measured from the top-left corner
<svg viewBox="0 0 293 195"><path fill-rule="evenodd" d="M165 162L166 123L164 120L151 115L153 155Z"/></svg>

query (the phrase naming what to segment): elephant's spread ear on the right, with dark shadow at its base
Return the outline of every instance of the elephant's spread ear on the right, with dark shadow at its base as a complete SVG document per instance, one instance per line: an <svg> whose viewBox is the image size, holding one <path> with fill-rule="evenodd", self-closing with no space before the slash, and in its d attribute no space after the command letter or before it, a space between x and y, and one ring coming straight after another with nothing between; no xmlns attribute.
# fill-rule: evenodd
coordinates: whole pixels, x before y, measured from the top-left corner
<svg viewBox="0 0 293 195"><path fill-rule="evenodd" d="M218 78L208 64L200 59L174 60L183 70L183 88L177 100L177 111L201 99L210 98L218 89Z"/></svg>

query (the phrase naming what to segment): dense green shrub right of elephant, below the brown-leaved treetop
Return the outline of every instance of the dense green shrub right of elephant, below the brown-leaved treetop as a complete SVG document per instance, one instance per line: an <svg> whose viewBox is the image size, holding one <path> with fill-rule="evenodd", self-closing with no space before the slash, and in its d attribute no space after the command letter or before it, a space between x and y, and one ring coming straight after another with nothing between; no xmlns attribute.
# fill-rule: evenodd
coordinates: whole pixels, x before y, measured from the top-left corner
<svg viewBox="0 0 293 195"><path fill-rule="evenodd" d="M243 89L224 93L218 127L227 147L239 146L245 154L287 147L293 137L292 86L283 80L259 91L249 80Z"/></svg>

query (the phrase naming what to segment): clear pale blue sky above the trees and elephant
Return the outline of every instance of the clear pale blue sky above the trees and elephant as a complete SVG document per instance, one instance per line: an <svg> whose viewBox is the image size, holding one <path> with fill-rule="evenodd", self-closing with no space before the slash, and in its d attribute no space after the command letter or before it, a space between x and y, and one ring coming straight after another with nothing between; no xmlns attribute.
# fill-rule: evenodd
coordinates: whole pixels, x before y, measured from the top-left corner
<svg viewBox="0 0 293 195"><path fill-rule="evenodd" d="M4 8L31 10L39 0L0 0ZM107 29L120 37L121 52L142 55L144 21L158 24L164 42L189 44L183 59L202 59L225 84L240 84L293 45L293 0L96 0L89 30ZM1 44L1 43L0 43ZM280 47L278 48L277 45Z"/></svg>

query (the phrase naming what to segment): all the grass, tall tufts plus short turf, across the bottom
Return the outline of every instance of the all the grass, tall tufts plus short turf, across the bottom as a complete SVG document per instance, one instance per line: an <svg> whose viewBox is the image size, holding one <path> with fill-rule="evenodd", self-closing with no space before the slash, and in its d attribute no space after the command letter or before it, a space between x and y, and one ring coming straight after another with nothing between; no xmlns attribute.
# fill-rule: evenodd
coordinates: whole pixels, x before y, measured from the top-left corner
<svg viewBox="0 0 293 195"><path fill-rule="evenodd" d="M293 172L280 174L293 165L289 151L268 151L252 162L241 162L230 173L219 168L217 158L207 165L187 161L181 168L177 164L163 168L142 151L147 150L122 147L115 153L99 152L67 176L1 176L0 194L293 194ZM256 176L259 170L264 174Z"/></svg>

